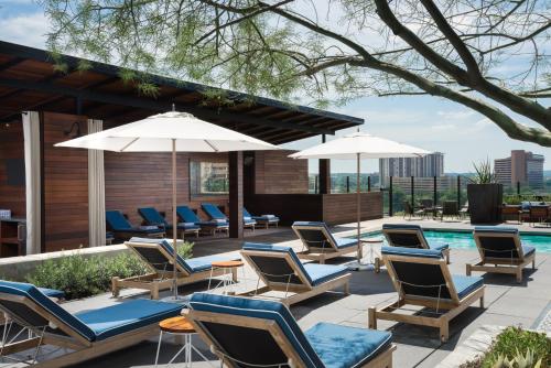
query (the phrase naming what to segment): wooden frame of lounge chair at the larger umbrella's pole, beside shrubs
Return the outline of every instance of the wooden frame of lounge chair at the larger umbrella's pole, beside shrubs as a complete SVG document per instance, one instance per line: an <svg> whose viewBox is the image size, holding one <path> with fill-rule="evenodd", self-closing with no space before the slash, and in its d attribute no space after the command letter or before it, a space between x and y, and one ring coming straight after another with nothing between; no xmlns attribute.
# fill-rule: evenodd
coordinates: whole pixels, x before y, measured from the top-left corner
<svg viewBox="0 0 551 368"><path fill-rule="evenodd" d="M130 277L126 279L120 279L118 277L114 277L111 279L111 292L115 297L119 296L120 289L122 288L133 288L147 290L150 292L151 299L159 299L159 292L161 290L171 289L174 285L173 281L173 271L172 269L166 271L160 271L151 264L147 258L144 258L136 248L150 248L159 250L166 258L166 266L171 266L173 263L173 256L169 253L163 247L158 243L147 243L147 242L132 242L126 241L125 245L130 248L140 259L142 259L148 268L151 270L150 273L145 273L142 275ZM194 282L208 280L210 277L220 277L228 271L222 268L207 269L201 272L188 273L181 264L176 264L177 270L177 286L191 284ZM231 278L235 282L237 282L237 269L231 269Z"/></svg>

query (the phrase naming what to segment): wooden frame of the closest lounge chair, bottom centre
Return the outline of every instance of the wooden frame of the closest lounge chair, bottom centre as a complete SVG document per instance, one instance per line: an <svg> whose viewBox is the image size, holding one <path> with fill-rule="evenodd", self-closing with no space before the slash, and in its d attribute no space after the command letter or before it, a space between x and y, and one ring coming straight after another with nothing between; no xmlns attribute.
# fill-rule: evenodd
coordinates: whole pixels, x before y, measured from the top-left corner
<svg viewBox="0 0 551 368"><path fill-rule="evenodd" d="M273 339L278 343L279 347L283 354L288 357L288 361L282 361L283 365L289 362L291 367L303 368L305 362L302 360L301 356L295 351L291 342L287 338L285 334L281 331L280 326L274 321L267 321L263 318L248 317L241 315L231 315L228 318L224 318L218 313L204 312L187 310L186 311L188 321L194 326L195 331L199 334L203 340L210 347L212 350L218 356L223 365L230 368L238 368L234 360L226 358L226 356L216 349L217 343L210 336L210 334L203 328L202 322L206 323L219 323L229 324L231 322L233 326L240 326L245 328L256 328L262 329L270 333ZM198 323L197 323L198 322ZM392 351L396 350L396 345L390 345L385 351L378 354L375 358L369 360L366 365L361 367L366 368L392 368Z"/></svg>

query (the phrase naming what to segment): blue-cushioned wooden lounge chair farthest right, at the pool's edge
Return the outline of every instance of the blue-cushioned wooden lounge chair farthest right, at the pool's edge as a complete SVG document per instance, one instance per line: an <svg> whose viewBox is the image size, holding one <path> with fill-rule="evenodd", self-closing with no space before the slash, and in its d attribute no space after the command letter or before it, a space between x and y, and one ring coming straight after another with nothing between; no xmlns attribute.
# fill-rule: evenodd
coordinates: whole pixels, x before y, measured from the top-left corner
<svg viewBox="0 0 551 368"><path fill-rule="evenodd" d="M475 227L473 232L480 261L467 264L472 271L509 273L522 281L522 269L532 262L536 268L536 248L520 242L518 229L508 227ZM487 266L486 266L487 264Z"/></svg>

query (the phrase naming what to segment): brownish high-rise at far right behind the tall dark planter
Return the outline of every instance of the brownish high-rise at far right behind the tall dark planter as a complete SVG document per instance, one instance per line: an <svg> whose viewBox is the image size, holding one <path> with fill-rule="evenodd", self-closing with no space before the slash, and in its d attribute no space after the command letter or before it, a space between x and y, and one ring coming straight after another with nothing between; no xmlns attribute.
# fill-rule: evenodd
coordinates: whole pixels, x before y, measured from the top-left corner
<svg viewBox="0 0 551 368"><path fill-rule="evenodd" d="M530 187L543 186L542 154L514 150L510 158L494 161L496 182L504 185L528 184Z"/></svg>

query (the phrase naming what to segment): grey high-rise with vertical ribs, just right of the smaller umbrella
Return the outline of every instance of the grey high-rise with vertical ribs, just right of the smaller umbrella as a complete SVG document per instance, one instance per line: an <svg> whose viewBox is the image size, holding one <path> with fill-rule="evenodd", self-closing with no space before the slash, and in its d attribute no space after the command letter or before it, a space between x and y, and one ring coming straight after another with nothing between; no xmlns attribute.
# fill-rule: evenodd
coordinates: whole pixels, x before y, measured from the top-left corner
<svg viewBox="0 0 551 368"><path fill-rule="evenodd" d="M444 153L434 152L422 158L380 159L381 184L387 185L389 176L430 177L444 175Z"/></svg>

